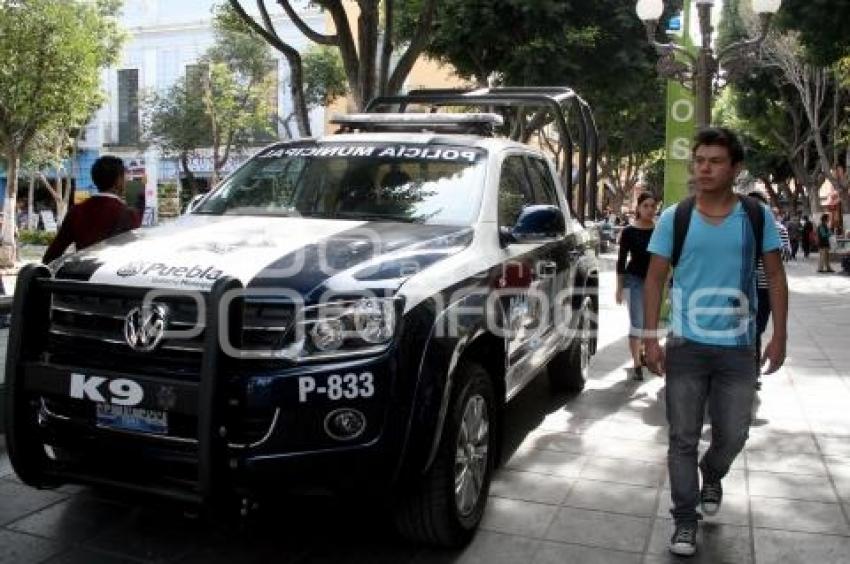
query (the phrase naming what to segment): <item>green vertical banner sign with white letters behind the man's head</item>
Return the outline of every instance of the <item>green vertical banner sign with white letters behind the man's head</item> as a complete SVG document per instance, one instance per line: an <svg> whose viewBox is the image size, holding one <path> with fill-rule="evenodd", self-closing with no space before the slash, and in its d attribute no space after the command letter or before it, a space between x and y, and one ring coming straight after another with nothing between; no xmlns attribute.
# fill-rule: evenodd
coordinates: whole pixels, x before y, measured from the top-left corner
<svg viewBox="0 0 850 564"><path fill-rule="evenodd" d="M691 39L691 1L685 0L681 31L672 41L696 51ZM678 203L688 195L688 162L691 158L691 140L696 123L696 105L693 94L675 80L667 82L667 158L664 163L664 207Z"/></svg>

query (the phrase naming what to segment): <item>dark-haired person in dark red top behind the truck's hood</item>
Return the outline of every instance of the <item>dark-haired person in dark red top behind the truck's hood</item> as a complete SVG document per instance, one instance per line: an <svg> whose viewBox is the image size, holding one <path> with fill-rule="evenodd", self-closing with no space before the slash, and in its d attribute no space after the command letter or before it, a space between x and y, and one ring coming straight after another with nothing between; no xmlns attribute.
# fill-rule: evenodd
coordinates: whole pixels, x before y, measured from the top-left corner
<svg viewBox="0 0 850 564"><path fill-rule="evenodd" d="M50 263L74 245L77 251L139 227L139 214L122 199L126 183L124 161L103 156L91 168L98 193L76 205L65 216L56 238L44 253Z"/></svg>

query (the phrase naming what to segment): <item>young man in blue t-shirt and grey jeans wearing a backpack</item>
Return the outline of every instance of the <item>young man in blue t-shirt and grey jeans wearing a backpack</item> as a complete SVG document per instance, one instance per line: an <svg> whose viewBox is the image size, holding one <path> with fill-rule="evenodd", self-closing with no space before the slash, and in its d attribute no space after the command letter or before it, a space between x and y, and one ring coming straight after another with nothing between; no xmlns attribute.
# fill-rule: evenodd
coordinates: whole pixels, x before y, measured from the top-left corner
<svg viewBox="0 0 850 564"><path fill-rule="evenodd" d="M682 556L696 553L697 506L701 504L708 515L720 509L721 481L747 440L759 372L755 355L759 257L773 317L773 337L762 357L762 364L769 362L765 373L775 372L785 361L788 286L781 242L770 210L732 191L743 158L743 147L731 131L701 131L693 150L696 196L662 214L649 244L645 347L650 370L666 373L667 378L668 468L676 524L670 551ZM671 264L676 267L671 327L662 350L659 306ZM698 461L706 403L711 445Z"/></svg>

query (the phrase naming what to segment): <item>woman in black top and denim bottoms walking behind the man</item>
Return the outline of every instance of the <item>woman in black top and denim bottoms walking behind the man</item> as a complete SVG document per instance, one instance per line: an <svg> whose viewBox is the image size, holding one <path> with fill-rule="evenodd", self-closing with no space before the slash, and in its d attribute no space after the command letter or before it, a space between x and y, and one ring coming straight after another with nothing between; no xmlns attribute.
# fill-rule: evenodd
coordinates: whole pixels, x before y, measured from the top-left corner
<svg viewBox="0 0 850 564"><path fill-rule="evenodd" d="M638 196L634 225L620 234L620 254L617 258L617 303L629 305L629 349L634 361L635 380L643 380L643 281L649 269L649 239L655 230L655 210L658 205L651 192Z"/></svg>

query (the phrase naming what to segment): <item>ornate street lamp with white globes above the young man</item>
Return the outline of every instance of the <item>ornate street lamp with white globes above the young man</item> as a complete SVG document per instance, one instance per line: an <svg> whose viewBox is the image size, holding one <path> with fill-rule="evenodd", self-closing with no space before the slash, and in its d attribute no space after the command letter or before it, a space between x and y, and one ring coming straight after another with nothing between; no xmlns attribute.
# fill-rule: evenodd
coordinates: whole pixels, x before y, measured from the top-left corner
<svg viewBox="0 0 850 564"><path fill-rule="evenodd" d="M687 0L686 0L687 1ZM706 127L711 123L711 99L715 87L721 87L719 82L720 69L725 70L723 77L727 79L743 72L749 66L749 60L767 37L770 20L779 10L782 0L753 0L753 11L759 15L760 30L758 37L733 43L715 56L711 46L711 36L714 27L711 24L711 9L715 0L695 0L699 14L701 45L699 52L694 55L688 49L675 43L659 43L655 39L658 20L664 12L664 0L638 0L636 10L638 17L646 25L646 33L650 43L660 55L658 73L664 78L678 80L689 88L696 98L697 127ZM684 56L677 57L679 53Z"/></svg>

